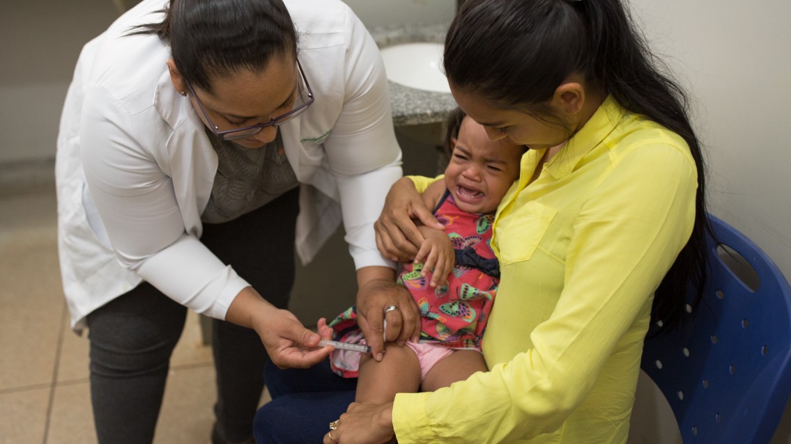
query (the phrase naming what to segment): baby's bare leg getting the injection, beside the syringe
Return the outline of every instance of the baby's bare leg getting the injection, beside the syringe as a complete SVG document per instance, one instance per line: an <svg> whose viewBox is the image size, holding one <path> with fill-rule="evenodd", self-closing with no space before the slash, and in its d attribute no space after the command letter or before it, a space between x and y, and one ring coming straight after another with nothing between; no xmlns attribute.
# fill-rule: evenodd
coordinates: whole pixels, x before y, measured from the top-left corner
<svg viewBox="0 0 791 444"><path fill-rule="evenodd" d="M389 343L384 358L377 362L372 356L360 359L355 402L384 404L395 399L395 393L416 393L420 387L420 363L411 348Z"/></svg>

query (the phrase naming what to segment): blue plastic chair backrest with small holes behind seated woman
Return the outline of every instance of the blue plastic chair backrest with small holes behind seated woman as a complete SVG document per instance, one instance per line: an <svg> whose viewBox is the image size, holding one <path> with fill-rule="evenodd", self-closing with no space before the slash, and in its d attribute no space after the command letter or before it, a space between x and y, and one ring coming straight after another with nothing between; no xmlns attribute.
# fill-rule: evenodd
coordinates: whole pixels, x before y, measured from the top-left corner
<svg viewBox="0 0 791 444"><path fill-rule="evenodd" d="M770 442L791 394L791 288L758 246L710 220L721 244L707 241L703 300L682 329L646 339L641 367L685 444Z"/></svg>

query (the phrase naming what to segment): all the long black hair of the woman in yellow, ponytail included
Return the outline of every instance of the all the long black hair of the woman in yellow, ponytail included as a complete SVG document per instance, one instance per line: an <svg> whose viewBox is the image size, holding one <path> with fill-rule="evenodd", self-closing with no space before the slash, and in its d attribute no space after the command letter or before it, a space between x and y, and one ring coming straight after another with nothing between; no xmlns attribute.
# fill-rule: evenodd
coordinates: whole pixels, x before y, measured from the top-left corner
<svg viewBox="0 0 791 444"><path fill-rule="evenodd" d="M619 0L467 0L445 40L445 73L455 88L570 131L548 104L572 73L621 106L687 141L698 169L691 238L655 293L652 321L667 331L696 303L708 276L706 182L701 145L683 89L650 51Z"/></svg>

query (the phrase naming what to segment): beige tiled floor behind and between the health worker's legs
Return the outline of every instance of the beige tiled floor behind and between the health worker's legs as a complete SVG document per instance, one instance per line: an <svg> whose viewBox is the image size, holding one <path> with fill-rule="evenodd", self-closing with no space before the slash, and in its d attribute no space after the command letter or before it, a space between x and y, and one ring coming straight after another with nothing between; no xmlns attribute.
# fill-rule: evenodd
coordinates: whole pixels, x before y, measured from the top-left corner
<svg viewBox="0 0 791 444"><path fill-rule="evenodd" d="M51 186L0 193L0 444L96 442L88 340L69 327ZM159 444L208 442L214 367L199 318L171 360Z"/></svg>

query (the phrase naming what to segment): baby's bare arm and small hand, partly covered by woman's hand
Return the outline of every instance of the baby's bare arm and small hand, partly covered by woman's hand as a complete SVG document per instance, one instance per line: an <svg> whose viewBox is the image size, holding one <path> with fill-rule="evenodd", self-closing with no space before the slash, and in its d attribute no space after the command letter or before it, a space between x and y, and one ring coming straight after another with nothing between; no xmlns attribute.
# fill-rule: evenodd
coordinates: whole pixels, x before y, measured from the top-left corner
<svg viewBox="0 0 791 444"><path fill-rule="evenodd" d="M437 206L443 194L445 194L445 181L438 180L433 182L423 192L423 202L428 208L433 209ZM430 285L437 287L438 284L444 283L448 274L452 272L453 264L456 262L456 252L453 250L453 245L445 231L427 227L426 225L418 225L418 230L420 230L425 240L420 245L418 254L414 257L414 263L423 262L425 258L420 274L422 277L426 277L431 272Z"/></svg>

